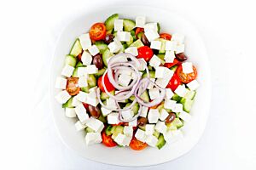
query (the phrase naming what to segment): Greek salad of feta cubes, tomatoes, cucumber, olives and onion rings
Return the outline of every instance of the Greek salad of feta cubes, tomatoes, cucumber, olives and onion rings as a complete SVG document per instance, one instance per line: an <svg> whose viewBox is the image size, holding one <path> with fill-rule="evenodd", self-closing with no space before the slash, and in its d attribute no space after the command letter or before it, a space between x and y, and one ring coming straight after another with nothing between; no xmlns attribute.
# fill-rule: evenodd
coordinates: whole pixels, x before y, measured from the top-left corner
<svg viewBox="0 0 256 170"><path fill-rule="evenodd" d="M55 99L87 145L161 149L183 138L199 88L184 51L182 34L161 32L144 16L113 14L75 40Z"/></svg>

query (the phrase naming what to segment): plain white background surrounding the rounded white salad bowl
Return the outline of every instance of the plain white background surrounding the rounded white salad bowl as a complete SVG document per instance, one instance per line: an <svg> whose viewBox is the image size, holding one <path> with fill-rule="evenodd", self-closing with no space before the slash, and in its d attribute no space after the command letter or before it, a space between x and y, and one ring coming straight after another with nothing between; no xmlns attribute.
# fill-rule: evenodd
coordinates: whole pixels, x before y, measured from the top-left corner
<svg viewBox="0 0 256 170"><path fill-rule="evenodd" d="M61 29L88 8L113 4L182 15L200 31L211 63L212 106L200 142L175 161L141 169L256 169L256 10L247 0L2 2L1 169L132 169L87 161L68 150L49 109L49 64Z"/></svg>

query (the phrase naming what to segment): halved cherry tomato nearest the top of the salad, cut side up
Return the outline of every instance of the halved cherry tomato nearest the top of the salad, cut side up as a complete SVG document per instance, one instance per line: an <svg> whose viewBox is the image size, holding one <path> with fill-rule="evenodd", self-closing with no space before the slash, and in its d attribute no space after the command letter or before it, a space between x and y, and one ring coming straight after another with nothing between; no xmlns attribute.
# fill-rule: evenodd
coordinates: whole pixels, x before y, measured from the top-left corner
<svg viewBox="0 0 256 170"><path fill-rule="evenodd" d="M98 41L106 37L106 26L103 23L96 23L90 27L90 39Z"/></svg>

